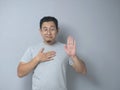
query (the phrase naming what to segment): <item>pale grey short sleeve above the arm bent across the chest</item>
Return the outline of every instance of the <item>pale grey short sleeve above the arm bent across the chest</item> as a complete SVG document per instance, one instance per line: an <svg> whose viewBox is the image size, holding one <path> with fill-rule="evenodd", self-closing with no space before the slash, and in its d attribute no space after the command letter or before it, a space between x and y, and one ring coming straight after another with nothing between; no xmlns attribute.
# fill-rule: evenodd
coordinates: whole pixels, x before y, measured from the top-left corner
<svg viewBox="0 0 120 90"><path fill-rule="evenodd" d="M29 62L32 59L32 48L28 48L21 58L21 62Z"/></svg>

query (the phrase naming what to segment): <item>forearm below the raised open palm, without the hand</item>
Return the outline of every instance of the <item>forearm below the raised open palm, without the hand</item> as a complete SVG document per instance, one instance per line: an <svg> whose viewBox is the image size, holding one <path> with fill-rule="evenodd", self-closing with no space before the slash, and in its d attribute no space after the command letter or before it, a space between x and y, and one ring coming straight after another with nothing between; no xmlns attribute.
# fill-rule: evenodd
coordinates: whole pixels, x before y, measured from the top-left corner
<svg viewBox="0 0 120 90"><path fill-rule="evenodd" d="M87 69L86 69L85 63L81 59L79 59L77 56L72 56L71 58L74 62L72 66L76 70L76 72L86 74Z"/></svg>

